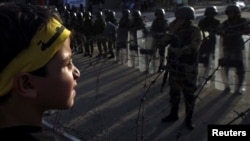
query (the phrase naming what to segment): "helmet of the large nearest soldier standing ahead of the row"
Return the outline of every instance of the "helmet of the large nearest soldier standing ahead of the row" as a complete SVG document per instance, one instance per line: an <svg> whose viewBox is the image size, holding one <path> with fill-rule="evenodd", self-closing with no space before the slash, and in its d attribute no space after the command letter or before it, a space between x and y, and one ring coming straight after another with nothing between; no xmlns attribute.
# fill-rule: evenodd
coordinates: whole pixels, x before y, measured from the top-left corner
<svg viewBox="0 0 250 141"><path fill-rule="evenodd" d="M192 6L182 6L175 11L175 17L180 19L195 19L195 10Z"/></svg>

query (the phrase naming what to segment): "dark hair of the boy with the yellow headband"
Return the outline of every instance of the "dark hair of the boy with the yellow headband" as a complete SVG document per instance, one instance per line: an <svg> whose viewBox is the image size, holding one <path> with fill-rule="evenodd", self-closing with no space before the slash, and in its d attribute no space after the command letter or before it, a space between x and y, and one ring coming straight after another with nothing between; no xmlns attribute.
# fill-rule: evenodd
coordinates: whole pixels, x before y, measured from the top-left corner
<svg viewBox="0 0 250 141"><path fill-rule="evenodd" d="M38 29L47 25L51 18L62 22L56 11L40 5L0 3L0 72L29 44ZM31 58L32 59L32 58ZM46 66L33 72L33 75L46 76ZM0 78L1 79L1 78ZM10 95L0 97L0 104Z"/></svg>

